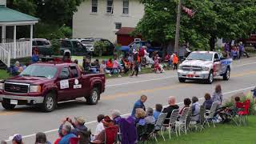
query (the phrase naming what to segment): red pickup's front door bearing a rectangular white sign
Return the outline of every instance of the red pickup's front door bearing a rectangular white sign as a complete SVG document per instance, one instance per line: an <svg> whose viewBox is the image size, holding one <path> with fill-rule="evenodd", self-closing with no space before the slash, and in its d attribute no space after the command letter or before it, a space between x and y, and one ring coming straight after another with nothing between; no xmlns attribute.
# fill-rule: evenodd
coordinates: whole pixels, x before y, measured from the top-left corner
<svg viewBox="0 0 256 144"><path fill-rule="evenodd" d="M63 67L57 81L58 101L71 99L70 85L71 85L70 70L68 67Z"/></svg>

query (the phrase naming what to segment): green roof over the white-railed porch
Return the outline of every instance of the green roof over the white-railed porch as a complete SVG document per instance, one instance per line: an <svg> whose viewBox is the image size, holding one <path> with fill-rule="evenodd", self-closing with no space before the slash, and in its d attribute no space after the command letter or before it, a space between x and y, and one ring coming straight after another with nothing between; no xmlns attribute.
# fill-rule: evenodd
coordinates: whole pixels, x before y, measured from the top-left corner
<svg viewBox="0 0 256 144"><path fill-rule="evenodd" d="M29 24L36 22L38 22L38 18L9 9L6 6L0 6L0 24Z"/></svg>

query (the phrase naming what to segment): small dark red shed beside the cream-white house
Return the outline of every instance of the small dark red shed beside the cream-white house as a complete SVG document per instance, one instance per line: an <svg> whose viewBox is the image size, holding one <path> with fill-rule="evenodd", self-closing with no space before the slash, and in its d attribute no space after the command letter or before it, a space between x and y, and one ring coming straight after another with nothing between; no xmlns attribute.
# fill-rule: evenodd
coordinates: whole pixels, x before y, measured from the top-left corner
<svg viewBox="0 0 256 144"><path fill-rule="evenodd" d="M117 34L117 42L122 46L128 46L131 42L134 42L134 38L142 38L141 35L136 37L131 36L134 31L134 27L122 27L115 34Z"/></svg>

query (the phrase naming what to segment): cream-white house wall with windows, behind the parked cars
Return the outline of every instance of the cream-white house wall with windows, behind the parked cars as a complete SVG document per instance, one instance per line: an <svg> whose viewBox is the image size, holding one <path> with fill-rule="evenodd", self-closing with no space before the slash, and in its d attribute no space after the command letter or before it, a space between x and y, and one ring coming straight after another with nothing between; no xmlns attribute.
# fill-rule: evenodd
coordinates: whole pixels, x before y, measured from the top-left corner
<svg viewBox="0 0 256 144"><path fill-rule="evenodd" d="M139 0L86 0L73 16L73 38L107 38L116 42L121 27L135 27L143 17Z"/></svg>

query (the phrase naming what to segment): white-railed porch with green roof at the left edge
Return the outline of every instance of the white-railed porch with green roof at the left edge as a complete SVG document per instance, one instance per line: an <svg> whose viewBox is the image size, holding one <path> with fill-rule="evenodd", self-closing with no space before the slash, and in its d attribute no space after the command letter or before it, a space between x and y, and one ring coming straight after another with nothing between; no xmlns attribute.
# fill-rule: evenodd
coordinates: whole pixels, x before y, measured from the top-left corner
<svg viewBox="0 0 256 144"><path fill-rule="evenodd" d="M38 18L22 14L5 6L0 6L0 27L2 29L0 37L0 61L6 64L7 67L10 67L10 59L12 58L31 57L33 26L36 22L38 22ZM7 26L11 27L12 30L6 30ZM30 41L22 42L17 39L17 26L30 26ZM11 36L6 38L6 34Z"/></svg>

